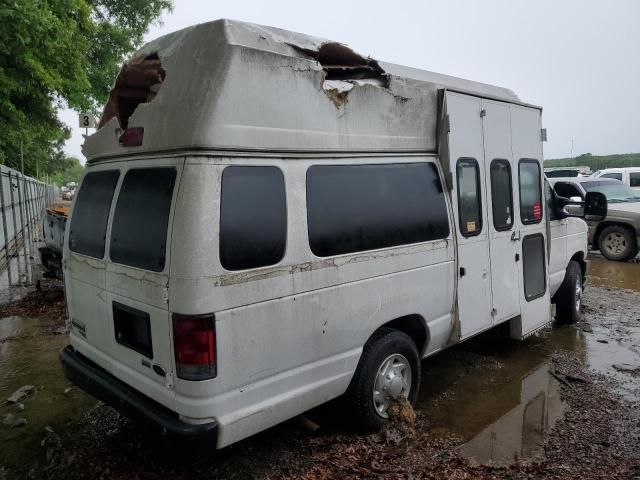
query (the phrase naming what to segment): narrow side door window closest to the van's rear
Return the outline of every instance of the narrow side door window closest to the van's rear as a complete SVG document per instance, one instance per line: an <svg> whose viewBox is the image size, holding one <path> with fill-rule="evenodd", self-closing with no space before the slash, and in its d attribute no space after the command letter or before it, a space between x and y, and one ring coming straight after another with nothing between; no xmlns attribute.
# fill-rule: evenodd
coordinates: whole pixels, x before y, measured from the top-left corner
<svg viewBox="0 0 640 480"><path fill-rule="evenodd" d="M456 166L458 177L458 217L460 232L465 237L482 231L482 199L480 169L473 158L461 158Z"/></svg>

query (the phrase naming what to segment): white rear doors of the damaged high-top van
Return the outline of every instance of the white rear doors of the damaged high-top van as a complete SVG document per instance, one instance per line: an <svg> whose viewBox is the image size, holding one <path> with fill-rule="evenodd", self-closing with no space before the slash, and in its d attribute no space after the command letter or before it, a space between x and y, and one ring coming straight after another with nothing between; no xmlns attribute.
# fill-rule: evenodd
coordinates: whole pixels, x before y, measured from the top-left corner
<svg viewBox="0 0 640 480"><path fill-rule="evenodd" d="M80 229L88 228L79 220L87 209L85 202L89 205L92 200L86 193L93 188L87 183L94 172L90 168L72 212L70 254L65 260L69 313L78 325L72 331L72 344L155 398L157 384L169 388L173 384L168 246L183 163L183 158L129 160L95 169L118 177L102 258L96 258L99 248L87 258L76 246L77 237L83 235Z"/></svg>

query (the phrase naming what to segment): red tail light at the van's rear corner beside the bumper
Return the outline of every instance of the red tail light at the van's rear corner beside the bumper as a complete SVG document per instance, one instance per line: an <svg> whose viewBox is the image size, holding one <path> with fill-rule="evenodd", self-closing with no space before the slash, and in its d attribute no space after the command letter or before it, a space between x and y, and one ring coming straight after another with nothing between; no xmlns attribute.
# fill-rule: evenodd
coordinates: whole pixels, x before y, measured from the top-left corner
<svg viewBox="0 0 640 480"><path fill-rule="evenodd" d="M207 380L217 375L215 315L173 314L176 373L183 380Z"/></svg>

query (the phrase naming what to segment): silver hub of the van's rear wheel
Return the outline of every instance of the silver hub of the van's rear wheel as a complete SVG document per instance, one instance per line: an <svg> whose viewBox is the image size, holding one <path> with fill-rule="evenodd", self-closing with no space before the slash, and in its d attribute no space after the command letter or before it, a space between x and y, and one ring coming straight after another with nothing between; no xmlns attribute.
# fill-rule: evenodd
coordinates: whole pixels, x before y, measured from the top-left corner
<svg viewBox="0 0 640 480"><path fill-rule="evenodd" d="M389 355L380 365L373 385L373 405L383 418L394 400L409 398L411 391L411 365L404 355Z"/></svg>

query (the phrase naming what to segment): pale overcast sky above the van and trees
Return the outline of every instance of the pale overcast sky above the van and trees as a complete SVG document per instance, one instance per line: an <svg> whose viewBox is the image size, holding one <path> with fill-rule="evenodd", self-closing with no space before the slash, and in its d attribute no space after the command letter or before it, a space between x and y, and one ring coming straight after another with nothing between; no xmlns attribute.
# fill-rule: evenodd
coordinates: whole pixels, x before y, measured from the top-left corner
<svg viewBox="0 0 640 480"><path fill-rule="evenodd" d="M348 44L392 63L510 88L542 105L545 158L640 152L640 0L174 0L154 39L218 18ZM66 151L81 158L75 112Z"/></svg>

